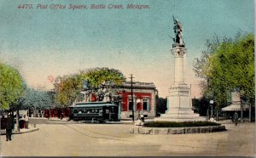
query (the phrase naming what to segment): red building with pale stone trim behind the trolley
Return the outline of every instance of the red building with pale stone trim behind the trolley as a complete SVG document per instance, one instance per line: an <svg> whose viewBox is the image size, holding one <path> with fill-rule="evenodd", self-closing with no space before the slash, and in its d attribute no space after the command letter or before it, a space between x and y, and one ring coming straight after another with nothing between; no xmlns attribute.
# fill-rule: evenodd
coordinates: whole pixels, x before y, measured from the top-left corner
<svg viewBox="0 0 256 158"><path fill-rule="evenodd" d="M132 82L133 86L133 105L131 102L131 82L123 82L115 87L115 93L109 96L105 93L103 102L113 102L119 105L120 119L131 118L132 108L134 108L134 118L137 119L138 112L145 117L155 116L156 96L158 91L153 82ZM83 100L77 102L95 102L99 99L95 93L81 92Z"/></svg>

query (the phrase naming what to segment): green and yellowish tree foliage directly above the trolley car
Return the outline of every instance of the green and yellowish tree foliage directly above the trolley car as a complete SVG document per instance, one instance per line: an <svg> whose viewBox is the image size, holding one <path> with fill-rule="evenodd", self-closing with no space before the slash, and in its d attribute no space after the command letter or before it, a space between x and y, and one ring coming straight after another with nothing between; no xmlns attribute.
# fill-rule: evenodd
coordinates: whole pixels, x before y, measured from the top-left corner
<svg viewBox="0 0 256 158"><path fill-rule="evenodd" d="M81 98L85 80L90 84L90 93L102 93L100 89L106 82L119 85L125 81L125 76L122 72L109 68L94 68L70 76L58 76L55 80L55 102L67 106Z"/></svg>

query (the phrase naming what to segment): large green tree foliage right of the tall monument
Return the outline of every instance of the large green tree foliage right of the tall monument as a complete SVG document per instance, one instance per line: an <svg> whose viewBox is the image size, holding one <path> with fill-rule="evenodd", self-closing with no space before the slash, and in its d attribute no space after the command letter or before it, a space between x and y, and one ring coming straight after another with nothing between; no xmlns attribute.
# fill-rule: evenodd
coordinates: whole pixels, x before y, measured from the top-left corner
<svg viewBox="0 0 256 158"><path fill-rule="evenodd" d="M218 107L227 105L230 92L236 90L241 98L253 103L254 96L254 37L238 35L235 39L215 37L207 41L207 51L195 59L196 76L201 82L203 96L213 99Z"/></svg>

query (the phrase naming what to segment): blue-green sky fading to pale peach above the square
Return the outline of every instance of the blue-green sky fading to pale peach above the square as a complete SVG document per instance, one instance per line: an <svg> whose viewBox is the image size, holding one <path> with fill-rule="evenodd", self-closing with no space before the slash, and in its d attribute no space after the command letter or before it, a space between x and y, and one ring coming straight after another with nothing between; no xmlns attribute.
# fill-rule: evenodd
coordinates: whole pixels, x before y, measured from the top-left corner
<svg viewBox="0 0 256 158"><path fill-rule="evenodd" d="M67 7L51 9L52 4ZM70 4L87 9L68 9ZM106 8L92 9L91 4ZM129 9L127 4L150 8ZM253 0L1 0L0 61L14 65L31 87L50 89L48 76L109 67L127 78L132 74L136 82L154 82L165 98L174 82L172 15L183 24L184 80L192 87L191 97L198 98L194 59L206 49L207 39L253 32Z"/></svg>

